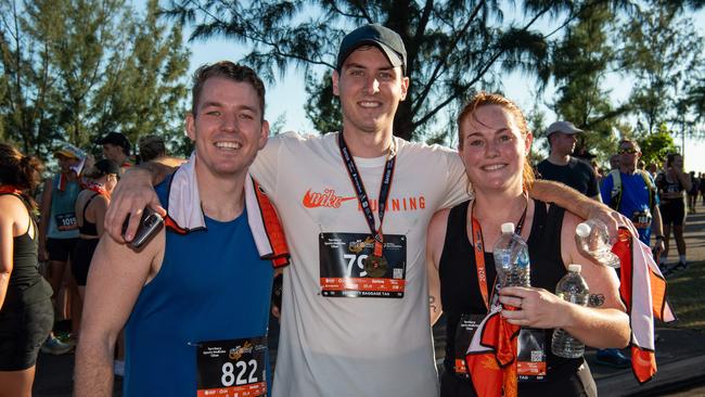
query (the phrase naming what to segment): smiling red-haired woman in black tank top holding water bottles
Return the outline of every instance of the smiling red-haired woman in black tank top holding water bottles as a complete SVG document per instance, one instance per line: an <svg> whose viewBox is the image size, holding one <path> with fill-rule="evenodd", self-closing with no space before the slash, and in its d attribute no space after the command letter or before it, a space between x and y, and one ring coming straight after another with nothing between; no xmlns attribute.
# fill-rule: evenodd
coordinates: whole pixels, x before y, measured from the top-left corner
<svg viewBox="0 0 705 397"><path fill-rule="evenodd" d="M553 329L563 328L586 345L626 346L629 319L619 298L616 273L578 252L574 233L581 219L557 206L527 198L534 180L526 161L533 137L514 103L501 95L478 93L461 113L458 127L459 153L474 200L434 216L426 249L431 299L439 302L447 315L441 396L476 394L473 374L465 368L465 350L493 299L516 308L502 310L501 316L510 324L522 326L518 338L531 336L539 346L543 344L531 355L538 357L540 370L524 371L522 367L521 376L515 375L521 379L520 396L594 395L587 364L582 359L554 356L551 335ZM493 294L491 248L500 236L500 226L517 221L523 223L517 231L529 247L531 287L507 287ZM567 265L574 262L582 265L590 293L602 297L600 307L580 307L553 294ZM435 308L434 312L432 304L432 321L440 316L440 308ZM526 361L537 363L534 357Z"/></svg>

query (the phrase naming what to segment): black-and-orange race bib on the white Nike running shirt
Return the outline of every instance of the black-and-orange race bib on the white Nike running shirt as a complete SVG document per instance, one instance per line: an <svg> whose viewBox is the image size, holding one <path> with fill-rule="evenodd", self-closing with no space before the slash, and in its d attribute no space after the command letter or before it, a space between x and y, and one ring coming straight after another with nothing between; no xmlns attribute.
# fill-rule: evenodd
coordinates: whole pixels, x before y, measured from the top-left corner
<svg viewBox="0 0 705 397"><path fill-rule="evenodd" d="M374 256L369 233L320 233L321 295L328 297L403 297L407 238L384 234L384 251Z"/></svg>

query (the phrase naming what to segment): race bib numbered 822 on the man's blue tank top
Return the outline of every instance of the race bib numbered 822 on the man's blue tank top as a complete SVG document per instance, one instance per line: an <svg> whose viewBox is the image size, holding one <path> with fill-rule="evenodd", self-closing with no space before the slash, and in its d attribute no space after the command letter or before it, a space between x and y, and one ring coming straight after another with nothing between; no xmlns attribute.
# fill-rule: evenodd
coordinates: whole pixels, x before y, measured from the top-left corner
<svg viewBox="0 0 705 397"><path fill-rule="evenodd" d="M197 397L267 395L267 338L200 342Z"/></svg>

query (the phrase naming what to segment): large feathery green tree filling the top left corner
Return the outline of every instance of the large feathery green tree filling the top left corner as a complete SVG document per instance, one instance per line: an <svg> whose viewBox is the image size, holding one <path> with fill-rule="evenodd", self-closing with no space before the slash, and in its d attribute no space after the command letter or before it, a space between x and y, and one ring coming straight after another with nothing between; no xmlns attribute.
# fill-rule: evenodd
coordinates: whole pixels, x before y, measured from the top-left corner
<svg viewBox="0 0 705 397"><path fill-rule="evenodd" d="M189 53L180 28L157 23L157 0L143 18L126 0L0 0L0 120L25 152L176 130Z"/></svg>

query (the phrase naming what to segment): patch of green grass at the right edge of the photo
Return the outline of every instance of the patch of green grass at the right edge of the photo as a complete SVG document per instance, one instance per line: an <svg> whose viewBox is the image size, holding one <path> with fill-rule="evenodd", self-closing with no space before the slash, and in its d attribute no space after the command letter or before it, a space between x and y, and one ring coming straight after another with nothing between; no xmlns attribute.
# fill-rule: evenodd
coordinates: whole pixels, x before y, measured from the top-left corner
<svg viewBox="0 0 705 397"><path fill-rule="evenodd" d="M678 317L668 326L705 330L705 260L691 261L666 280L668 302Z"/></svg>

